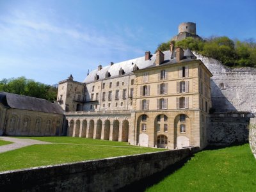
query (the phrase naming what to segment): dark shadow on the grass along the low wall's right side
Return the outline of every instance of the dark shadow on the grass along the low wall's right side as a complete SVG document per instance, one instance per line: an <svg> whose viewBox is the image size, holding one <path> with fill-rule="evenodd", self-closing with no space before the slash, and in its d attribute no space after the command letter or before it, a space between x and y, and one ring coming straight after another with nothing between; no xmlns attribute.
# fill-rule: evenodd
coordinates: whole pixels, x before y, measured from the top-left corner
<svg viewBox="0 0 256 192"><path fill-rule="evenodd" d="M145 191L145 189L161 182L161 180L163 180L165 177L179 170L182 166L184 166L184 164L186 164L191 159L191 157L193 156L182 159L181 161L168 166L161 172L154 173L149 177L133 182L132 184L125 186L124 188L120 188L117 191Z"/></svg>

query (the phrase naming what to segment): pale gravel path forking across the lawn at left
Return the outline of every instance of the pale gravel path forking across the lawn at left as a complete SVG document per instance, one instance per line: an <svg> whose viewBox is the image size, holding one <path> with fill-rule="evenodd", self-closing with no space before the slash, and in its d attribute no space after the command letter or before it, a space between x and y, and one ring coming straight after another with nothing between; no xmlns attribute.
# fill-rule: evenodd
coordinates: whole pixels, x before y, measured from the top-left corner
<svg viewBox="0 0 256 192"><path fill-rule="evenodd" d="M29 145L52 144L50 142L45 142L45 141L38 141L38 140L31 140L31 139L9 138L9 137L1 137L1 136L0 136L0 140L13 142L12 144L1 145L0 146L0 153L6 152L6 151L9 151L9 150L15 150L17 148L26 147L26 146L29 146Z"/></svg>

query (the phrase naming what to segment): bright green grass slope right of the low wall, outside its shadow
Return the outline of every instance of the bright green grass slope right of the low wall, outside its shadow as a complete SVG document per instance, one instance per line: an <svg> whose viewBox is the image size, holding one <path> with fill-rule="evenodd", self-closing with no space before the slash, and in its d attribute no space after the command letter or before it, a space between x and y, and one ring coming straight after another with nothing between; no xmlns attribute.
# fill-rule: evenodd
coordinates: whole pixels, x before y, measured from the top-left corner
<svg viewBox="0 0 256 192"><path fill-rule="evenodd" d="M256 160L248 144L198 152L147 191L255 191Z"/></svg>

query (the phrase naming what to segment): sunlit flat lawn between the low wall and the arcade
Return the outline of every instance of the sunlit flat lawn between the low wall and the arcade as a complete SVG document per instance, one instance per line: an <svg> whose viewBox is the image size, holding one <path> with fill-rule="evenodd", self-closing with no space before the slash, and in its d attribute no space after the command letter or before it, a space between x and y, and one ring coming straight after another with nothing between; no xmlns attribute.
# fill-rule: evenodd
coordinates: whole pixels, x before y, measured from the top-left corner
<svg viewBox="0 0 256 192"><path fill-rule="evenodd" d="M25 138L25 137L22 137ZM136 147L125 142L92 140L71 137L29 137L56 142L51 145L31 145L0 154L0 172L49 164L70 163L105 157L116 157L164 149ZM70 143L70 144L61 144Z"/></svg>

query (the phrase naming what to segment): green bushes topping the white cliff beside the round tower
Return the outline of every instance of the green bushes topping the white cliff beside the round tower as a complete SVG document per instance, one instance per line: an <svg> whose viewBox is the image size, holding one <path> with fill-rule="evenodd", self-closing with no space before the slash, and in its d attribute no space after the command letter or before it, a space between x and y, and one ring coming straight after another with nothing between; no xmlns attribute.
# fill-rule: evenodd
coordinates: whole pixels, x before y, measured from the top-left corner
<svg viewBox="0 0 256 192"><path fill-rule="evenodd" d="M256 67L256 43L253 40L231 40L227 36L217 36L198 40L188 37L175 42L175 47L191 49L192 51L220 60L228 67ZM159 44L157 50L170 49L170 41Z"/></svg>

